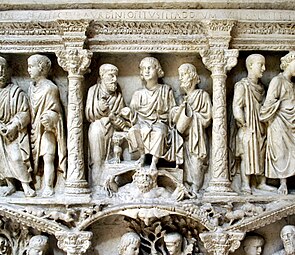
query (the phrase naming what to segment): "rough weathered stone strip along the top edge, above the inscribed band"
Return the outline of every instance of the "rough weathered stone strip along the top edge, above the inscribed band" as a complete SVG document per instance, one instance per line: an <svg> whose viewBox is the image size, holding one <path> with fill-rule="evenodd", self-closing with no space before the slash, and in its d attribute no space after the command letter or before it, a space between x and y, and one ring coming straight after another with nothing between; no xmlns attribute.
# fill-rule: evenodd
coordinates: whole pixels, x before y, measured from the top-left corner
<svg viewBox="0 0 295 255"><path fill-rule="evenodd" d="M46 1L40 0L32 2L30 0L3 0L1 10L54 10L54 9L85 9L85 8L189 8L189 9L294 9L293 1L288 0L60 0Z"/></svg>

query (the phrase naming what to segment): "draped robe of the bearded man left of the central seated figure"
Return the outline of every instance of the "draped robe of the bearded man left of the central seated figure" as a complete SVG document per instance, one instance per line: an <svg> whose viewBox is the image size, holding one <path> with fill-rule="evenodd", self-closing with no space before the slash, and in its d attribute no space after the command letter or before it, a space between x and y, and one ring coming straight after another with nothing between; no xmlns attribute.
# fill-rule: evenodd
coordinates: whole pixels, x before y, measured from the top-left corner
<svg viewBox="0 0 295 255"><path fill-rule="evenodd" d="M102 111L99 102L105 100L108 108ZM85 115L91 123L88 130L90 165L99 168L107 159L114 126L109 118L110 114L119 114L124 107L122 94L116 91L113 94L105 91L101 84L93 85L87 95ZM99 169L93 169L99 171Z"/></svg>

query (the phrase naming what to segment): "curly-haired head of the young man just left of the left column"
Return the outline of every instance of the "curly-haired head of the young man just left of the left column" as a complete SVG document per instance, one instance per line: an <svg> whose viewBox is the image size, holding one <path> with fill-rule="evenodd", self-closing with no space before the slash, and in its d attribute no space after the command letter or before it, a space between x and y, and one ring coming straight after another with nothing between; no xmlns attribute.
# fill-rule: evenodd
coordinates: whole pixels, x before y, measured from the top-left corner
<svg viewBox="0 0 295 255"><path fill-rule="evenodd" d="M33 80L47 77L51 61L44 55L35 54L28 58L28 73Z"/></svg>

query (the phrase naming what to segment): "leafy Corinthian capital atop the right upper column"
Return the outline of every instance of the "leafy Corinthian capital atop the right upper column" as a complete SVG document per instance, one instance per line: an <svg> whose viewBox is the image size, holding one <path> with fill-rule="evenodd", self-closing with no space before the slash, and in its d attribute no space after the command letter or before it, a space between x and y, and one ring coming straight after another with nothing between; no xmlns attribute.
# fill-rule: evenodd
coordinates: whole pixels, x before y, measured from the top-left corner
<svg viewBox="0 0 295 255"><path fill-rule="evenodd" d="M212 74L226 74L238 62L236 49L208 48L200 52L204 65Z"/></svg>

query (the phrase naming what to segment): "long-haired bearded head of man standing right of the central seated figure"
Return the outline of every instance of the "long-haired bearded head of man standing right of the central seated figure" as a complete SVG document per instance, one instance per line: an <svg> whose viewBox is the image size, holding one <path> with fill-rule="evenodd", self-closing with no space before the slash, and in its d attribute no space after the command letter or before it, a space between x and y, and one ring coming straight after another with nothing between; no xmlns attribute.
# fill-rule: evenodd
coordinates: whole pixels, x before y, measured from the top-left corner
<svg viewBox="0 0 295 255"><path fill-rule="evenodd" d="M180 88L186 93L192 91L201 81L196 67L192 64L182 64L178 68L178 75L181 82Z"/></svg>

